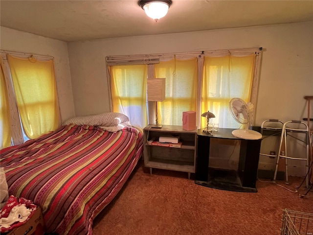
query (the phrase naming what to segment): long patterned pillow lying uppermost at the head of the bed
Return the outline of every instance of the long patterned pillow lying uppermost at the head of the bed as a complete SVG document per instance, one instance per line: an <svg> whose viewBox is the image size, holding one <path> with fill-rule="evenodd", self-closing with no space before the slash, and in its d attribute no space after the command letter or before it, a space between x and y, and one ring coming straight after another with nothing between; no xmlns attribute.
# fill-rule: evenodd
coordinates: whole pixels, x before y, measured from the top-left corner
<svg viewBox="0 0 313 235"><path fill-rule="evenodd" d="M129 121L129 118L121 113L104 113L86 117L69 118L64 122L64 125L90 125L90 126L117 126L120 123Z"/></svg>

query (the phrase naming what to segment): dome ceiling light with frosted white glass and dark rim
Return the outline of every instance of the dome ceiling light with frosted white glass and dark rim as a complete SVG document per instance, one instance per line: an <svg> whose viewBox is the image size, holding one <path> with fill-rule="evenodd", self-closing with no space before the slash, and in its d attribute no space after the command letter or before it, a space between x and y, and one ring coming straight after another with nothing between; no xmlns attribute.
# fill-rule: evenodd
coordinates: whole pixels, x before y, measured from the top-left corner
<svg viewBox="0 0 313 235"><path fill-rule="evenodd" d="M145 10L147 16L157 22L162 17L166 16L168 8L172 4L171 0L140 0L139 6Z"/></svg>

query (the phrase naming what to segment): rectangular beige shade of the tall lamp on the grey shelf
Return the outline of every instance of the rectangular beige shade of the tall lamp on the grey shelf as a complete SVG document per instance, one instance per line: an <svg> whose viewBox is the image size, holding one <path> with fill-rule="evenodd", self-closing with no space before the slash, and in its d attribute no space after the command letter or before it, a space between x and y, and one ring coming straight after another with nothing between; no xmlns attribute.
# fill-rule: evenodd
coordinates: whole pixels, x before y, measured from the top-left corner
<svg viewBox="0 0 313 235"><path fill-rule="evenodd" d="M165 78L152 78L147 80L148 101L165 100Z"/></svg>

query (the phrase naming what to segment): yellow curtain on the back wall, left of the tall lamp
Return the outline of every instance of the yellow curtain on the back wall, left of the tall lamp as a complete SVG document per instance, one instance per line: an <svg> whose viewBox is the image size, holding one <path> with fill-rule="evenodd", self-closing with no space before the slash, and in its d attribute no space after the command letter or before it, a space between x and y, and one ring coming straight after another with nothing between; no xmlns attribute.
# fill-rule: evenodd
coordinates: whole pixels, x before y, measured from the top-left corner
<svg viewBox="0 0 313 235"><path fill-rule="evenodd" d="M125 114L138 127L148 124L147 71L147 65L110 67L113 112Z"/></svg>

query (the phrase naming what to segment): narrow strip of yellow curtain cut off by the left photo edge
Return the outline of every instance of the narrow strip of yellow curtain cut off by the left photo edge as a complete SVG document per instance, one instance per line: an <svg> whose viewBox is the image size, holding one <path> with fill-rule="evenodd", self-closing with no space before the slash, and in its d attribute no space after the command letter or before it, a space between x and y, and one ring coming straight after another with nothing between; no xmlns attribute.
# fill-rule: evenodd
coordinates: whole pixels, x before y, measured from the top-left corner
<svg viewBox="0 0 313 235"><path fill-rule="evenodd" d="M4 79L4 74L2 70L2 63L1 63L1 94L0 94L0 149L11 146L11 119L10 119L10 107L9 107L9 98L8 98L8 92L6 88L6 82Z"/></svg>

